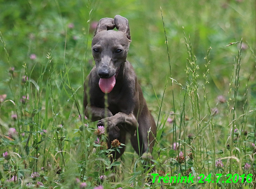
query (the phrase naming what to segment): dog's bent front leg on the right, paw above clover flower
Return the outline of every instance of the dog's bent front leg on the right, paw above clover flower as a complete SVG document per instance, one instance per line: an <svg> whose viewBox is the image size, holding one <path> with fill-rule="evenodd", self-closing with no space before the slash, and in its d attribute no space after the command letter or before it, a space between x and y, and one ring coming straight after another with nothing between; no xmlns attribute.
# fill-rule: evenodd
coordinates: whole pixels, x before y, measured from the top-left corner
<svg viewBox="0 0 256 189"><path fill-rule="evenodd" d="M136 131L137 127L139 126L137 119L133 113L130 113L129 115L127 115L126 113L123 113L123 112L119 112L114 116L101 119L97 123L97 126L105 126L109 131L119 124L129 126L130 131Z"/></svg>

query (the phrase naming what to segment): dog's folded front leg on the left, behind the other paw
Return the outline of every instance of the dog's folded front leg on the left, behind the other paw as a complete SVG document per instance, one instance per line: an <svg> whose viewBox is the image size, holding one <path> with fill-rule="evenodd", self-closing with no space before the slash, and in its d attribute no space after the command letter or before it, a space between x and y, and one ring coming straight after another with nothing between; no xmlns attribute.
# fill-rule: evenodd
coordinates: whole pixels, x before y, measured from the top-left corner
<svg viewBox="0 0 256 189"><path fill-rule="evenodd" d="M91 118L92 122L95 122L95 121L103 119L103 118L112 117L113 114L109 111L109 109L98 108L95 106L89 106L87 104L87 106L85 108L85 116L87 118Z"/></svg>

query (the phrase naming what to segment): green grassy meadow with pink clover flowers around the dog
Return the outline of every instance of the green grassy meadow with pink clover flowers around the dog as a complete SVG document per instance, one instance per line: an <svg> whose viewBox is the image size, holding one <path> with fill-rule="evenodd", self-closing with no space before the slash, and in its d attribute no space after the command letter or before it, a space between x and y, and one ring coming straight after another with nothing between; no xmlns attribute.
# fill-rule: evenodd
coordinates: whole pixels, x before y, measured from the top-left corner
<svg viewBox="0 0 256 189"><path fill-rule="evenodd" d="M255 188L255 7L0 0L0 188ZM157 134L152 154L127 142L110 162L123 146L108 150L106 131L84 117L83 82L97 22L118 14Z"/></svg>

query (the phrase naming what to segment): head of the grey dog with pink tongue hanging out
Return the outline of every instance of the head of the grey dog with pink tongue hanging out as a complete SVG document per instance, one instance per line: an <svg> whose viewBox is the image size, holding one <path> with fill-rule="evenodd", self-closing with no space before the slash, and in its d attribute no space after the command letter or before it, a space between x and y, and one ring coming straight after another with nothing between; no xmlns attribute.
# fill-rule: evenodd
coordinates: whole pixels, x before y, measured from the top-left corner
<svg viewBox="0 0 256 189"><path fill-rule="evenodd" d="M115 27L118 31L113 30ZM91 48L103 92L109 93L113 89L119 68L126 62L130 42L126 18L116 15L114 19L102 18L99 21Z"/></svg>

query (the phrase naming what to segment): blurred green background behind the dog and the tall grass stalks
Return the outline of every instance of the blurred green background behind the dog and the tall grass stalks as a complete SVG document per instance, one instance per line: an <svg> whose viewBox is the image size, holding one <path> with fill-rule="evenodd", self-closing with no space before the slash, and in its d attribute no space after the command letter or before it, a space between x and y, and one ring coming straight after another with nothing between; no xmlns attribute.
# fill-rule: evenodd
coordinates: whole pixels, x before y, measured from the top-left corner
<svg viewBox="0 0 256 189"><path fill-rule="evenodd" d="M248 98L249 106L254 107L256 101L252 99L256 96L255 58L246 43L253 49L256 46L253 0L0 0L0 31L10 57L9 66L1 44L0 94L7 94L7 99L13 99L9 89L9 67L15 68L14 83L19 83L25 75L22 66L24 62L31 81L34 80L35 83L41 69L46 69L43 81L45 84L49 76L49 68L45 68L46 55L51 49L56 78L65 70L65 61L72 87L74 90L78 89L77 99L81 108L82 81L95 65L91 55L95 24L103 17L114 18L119 14L128 19L131 30L132 43L127 59L135 68L144 96L156 117L158 104L153 88L161 98L166 76L170 77L160 7L170 49L172 77L179 83L185 85L184 70L188 57L182 26L186 37L190 35L192 50L197 57L200 68L199 84L204 82L204 57L207 49L212 47L208 75L210 84L207 88L211 104L216 104L218 95L228 95L238 46L226 45L243 38L238 100L243 99L245 83L250 74ZM82 66L84 75L81 72ZM172 108L170 84L169 79L163 106L166 113ZM19 84L15 85L18 89ZM177 85L174 87L177 88L175 94L178 94L176 100L179 102L180 90ZM199 90L202 90L201 86Z"/></svg>

